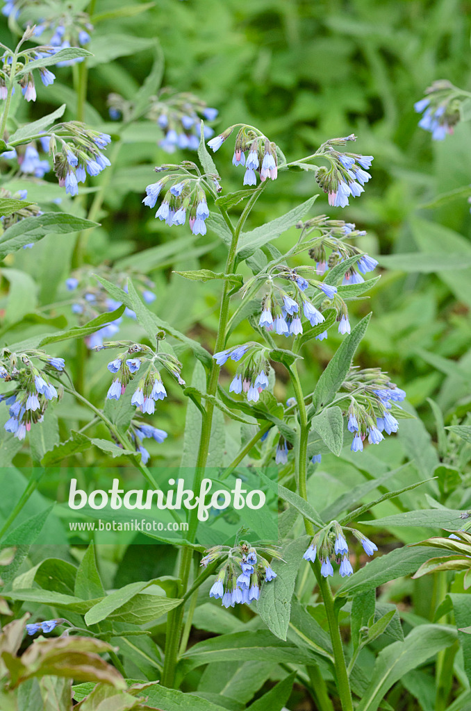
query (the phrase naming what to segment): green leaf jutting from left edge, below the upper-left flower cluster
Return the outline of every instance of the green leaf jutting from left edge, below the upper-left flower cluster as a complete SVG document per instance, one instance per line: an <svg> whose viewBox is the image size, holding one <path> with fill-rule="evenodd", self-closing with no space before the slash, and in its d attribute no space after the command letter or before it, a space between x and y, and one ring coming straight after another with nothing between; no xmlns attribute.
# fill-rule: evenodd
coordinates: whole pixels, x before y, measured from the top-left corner
<svg viewBox="0 0 471 711"><path fill-rule="evenodd" d="M97 223L83 220L67 213L43 213L35 217L25 218L11 225L0 238L0 260L11 252L21 250L21 247L31 242L42 240L45 235L66 235L69 232L79 232L96 227Z"/></svg>

